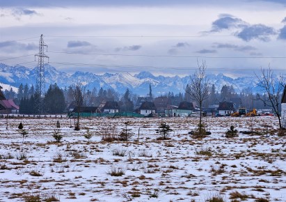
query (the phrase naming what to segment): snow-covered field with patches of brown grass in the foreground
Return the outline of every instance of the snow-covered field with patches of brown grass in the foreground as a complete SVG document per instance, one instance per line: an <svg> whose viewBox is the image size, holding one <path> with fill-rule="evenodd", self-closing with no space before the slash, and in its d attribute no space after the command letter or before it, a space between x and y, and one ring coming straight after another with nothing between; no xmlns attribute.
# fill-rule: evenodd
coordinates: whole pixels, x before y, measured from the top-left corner
<svg viewBox="0 0 286 202"><path fill-rule="evenodd" d="M52 137L56 121L61 143ZM126 121L134 132L129 141L102 141ZM157 140L162 121L173 129L168 140ZM67 118L9 119L8 130L0 119L0 201L286 201L286 140L273 134L276 118L204 122L212 134L193 139L188 132L197 118L81 118L80 131ZM262 134L225 138L230 125ZM89 142L86 129L94 134Z"/></svg>

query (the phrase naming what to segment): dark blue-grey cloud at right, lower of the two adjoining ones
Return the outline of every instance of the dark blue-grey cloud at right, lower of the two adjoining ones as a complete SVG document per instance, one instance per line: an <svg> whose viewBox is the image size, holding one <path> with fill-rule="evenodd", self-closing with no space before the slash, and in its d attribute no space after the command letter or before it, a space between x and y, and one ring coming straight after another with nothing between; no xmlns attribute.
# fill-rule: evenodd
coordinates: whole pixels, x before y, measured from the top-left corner
<svg viewBox="0 0 286 202"><path fill-rule="evenodd" d="M244 41L250 41L253 39L262 40L267 42L270 40L270 35L276 34L276 31L264 24L254 24L246 26L244 29L239 31L236 36Z"/></svg>

